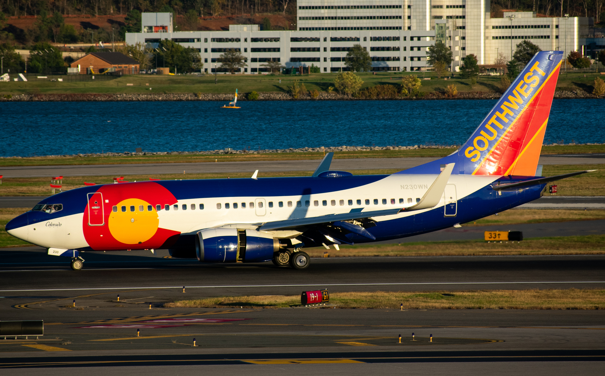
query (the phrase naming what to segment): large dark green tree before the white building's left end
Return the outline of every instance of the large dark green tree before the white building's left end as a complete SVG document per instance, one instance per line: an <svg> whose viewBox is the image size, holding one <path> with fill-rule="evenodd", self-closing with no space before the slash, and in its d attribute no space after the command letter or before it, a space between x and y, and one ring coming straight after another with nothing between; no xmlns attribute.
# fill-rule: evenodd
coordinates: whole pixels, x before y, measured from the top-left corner
<svg viewBox="0 0 605 376"><path fill-rule="evenodd" d="M191 47L185 48L170 39L162 39L157 50L159 51L155 51L152 63L155 64L155 57L157 57L158 65L161 63L163 66L168 66L171 73L191 73L200 70L203 66L197 50Z"/></svg>

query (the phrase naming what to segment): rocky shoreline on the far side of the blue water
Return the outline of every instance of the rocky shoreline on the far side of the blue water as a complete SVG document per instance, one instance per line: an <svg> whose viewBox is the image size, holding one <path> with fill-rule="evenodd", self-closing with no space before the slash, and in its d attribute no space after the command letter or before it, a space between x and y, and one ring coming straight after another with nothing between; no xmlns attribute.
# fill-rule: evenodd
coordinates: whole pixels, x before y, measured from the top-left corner
<svg viewBox="0 0 605 376"><path fill-rule="evenodd" d="M247 100L249 93L241 93L238 100ZM459 100L459 99L499 99L499 92L471 91L460 92L450 97L442 92L426 92L421 98L396 97L364 99L348 97L337 92L319 92L316 98L304 94L294 99L287 92L259 92L258 100ZM597 98L583 90L555 91L555 99L594 99ZM226 101L232 100L232 94L209 93L157 93L157 94L16 94L15 96L2 96L0 102L158 102L158 101Z"/></svg>

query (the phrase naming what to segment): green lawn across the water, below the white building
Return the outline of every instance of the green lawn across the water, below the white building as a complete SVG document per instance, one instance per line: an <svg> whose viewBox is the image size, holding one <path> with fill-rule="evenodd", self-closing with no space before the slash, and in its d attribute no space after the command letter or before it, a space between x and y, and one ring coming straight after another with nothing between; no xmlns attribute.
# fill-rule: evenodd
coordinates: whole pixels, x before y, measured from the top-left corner
<svg viewBox="0 0 605 376"><path fill-rule="evenodd" d="M252 65L253 66L253 65ZM431 72L420 73L358 73L367 88L374 85L398 85L401 77L406 74L416 74L422 81L422 91L443 91L447 85L456 85L459 92L465 91L497 91L499 90L500 77L481 76L476 85L471 86L470 80L456 76L453 80L437 79ZM257 76L250 74L218 74L218 83L214 83L215 76L157 76L157 75L134 75L122 76L113 80L96 80L89 82L50 82L49 80L30 80L28 82L6 82L0 86L0 95L6 94L149 94L149 93L229 93L239 89L240 92L287 92L288 86L293 80L299 79L308 90L327 91L329 86L334 85L336 73L318 73L302 76L276 75ZM58 76L57 76L58 77ZM583 73L563 74L558 79L558 89L592 91L592 83L600 74L590 73L584 77ZM281 79L281 83L279 80ZM132 86L126 84L132 83ZM146 84L149 84L147 86ZM151 90L150 90L151 88Z"/></svg>

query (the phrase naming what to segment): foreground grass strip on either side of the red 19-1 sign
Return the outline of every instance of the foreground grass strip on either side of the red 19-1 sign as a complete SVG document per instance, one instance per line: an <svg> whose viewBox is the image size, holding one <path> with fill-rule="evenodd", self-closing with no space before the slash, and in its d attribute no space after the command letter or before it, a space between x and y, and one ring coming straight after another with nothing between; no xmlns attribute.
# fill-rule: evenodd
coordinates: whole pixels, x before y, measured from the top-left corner
<svg viewBox="0 0 605 376"><path fill-rule="evenodd" d="M330 293L337 308L405 310L603 310L605 290L469 290ZM220 296L178 300L166 308L288 308L300 296Z"/></svg>

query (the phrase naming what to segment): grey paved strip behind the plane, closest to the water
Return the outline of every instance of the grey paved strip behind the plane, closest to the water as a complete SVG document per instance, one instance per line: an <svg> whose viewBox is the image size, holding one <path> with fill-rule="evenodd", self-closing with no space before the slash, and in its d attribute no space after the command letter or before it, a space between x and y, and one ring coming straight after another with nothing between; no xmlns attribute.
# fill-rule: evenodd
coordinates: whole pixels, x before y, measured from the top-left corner
<svg viewBox="0 0 605 376"><path fill-rule="evenodd" d="M335 159L333 170L409 169L439 158L359 158ZM541 155L538 162L548 164L605 164L605 154ZM295 161L244 161L204 163L149 163L149 164L101 164L79 166L16 166L0 167L5 178L54 177L54 176L103 176L103 175L153 175L162 173L216 173L216 172L284 172L313 171L319 160Z"/></svg>

